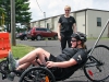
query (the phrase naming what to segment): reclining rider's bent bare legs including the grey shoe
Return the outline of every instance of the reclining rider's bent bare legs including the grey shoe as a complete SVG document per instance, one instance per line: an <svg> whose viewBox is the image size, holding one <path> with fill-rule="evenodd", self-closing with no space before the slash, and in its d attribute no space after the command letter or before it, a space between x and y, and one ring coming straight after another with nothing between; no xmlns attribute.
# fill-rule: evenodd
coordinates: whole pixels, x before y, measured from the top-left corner
<svg viewBox="0 0 109 82"><path fill-rule="evenodd" d="M15 69L17 69L21 65L23 65L22 67L28 67L28 63L32 63L33 60L36 59L36 57L39 58L39 61L44 65L46 65L46 60L45 57L47 57L49 59L50 57L50 52L44 50L43 48L37 48L31 52L28 52L26 56L24 56L23 58L15 60L13 58L13 56L11 54L9 54L9 69L10 71L13 71ZM25 65L24 65L25 63Z"/></svg>

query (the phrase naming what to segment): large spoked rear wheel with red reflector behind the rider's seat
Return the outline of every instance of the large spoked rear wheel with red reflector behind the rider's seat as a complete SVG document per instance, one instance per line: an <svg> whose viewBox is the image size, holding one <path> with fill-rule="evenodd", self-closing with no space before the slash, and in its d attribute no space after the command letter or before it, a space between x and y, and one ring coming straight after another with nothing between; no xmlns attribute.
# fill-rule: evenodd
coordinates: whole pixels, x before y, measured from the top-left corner
<svg viewBox="0 0 109 82"><path fill-rule="evenodd" d="M90 51L90 49L88 50ZM101 66L94 65L84 67L85 75L94 82L101 82L109 78L109 47L105 45L97 45L93 51L93 57L101 62ZM95 62L96 62L95 60ZM92 62L92 59L87 60L87 63Z"/></svg>

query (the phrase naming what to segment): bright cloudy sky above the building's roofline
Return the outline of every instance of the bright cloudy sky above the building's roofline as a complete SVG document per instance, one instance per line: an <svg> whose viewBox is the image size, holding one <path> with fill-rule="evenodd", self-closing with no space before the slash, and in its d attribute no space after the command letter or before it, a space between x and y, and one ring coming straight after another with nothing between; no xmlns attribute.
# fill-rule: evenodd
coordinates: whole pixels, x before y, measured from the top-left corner
<svg viewBox="0 0 109 82"><path fill-rule="evenodd" d="M40 7L38 7L38 4ZM70 5L71 12L82 9L98 9L109 11L109 0L29 0L32 22L64 13L64 7Z"/></svg>

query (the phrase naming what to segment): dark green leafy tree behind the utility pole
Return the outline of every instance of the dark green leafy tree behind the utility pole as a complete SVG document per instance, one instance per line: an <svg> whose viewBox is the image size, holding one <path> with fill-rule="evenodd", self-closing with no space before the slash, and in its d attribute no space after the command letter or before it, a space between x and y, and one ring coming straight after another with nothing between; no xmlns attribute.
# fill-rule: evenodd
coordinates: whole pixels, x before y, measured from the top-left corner
<svg viewBox="0 0 109 82"><path fill-rule="evenodd" d="M31 21L31 12L29 10L29 2L28 0L15 0L15 23L21 23L23 25L28 25ZM11 31L11 8L10 8L10 0L0 0L0 8L4 10L5 15L5 25L8 26L8 31Z"/></svg>

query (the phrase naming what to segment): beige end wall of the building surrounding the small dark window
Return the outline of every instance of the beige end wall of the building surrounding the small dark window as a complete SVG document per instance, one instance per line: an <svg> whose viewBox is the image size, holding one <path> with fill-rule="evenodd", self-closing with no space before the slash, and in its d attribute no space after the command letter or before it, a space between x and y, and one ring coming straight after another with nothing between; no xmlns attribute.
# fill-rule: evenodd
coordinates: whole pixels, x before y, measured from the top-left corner
<svg viewBox="0 0 109 82"><path fill-rule="evenodd" d="M109 12L101 12L101 11L87 11L88 14L88 37L94 38L98 37L102 27L105 26L106 22L109 19ZM101 26L97 26L97 17L101 17ZM108 35L108 27L106 28L102 37L107 37Z"/></svg>

